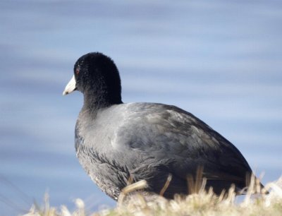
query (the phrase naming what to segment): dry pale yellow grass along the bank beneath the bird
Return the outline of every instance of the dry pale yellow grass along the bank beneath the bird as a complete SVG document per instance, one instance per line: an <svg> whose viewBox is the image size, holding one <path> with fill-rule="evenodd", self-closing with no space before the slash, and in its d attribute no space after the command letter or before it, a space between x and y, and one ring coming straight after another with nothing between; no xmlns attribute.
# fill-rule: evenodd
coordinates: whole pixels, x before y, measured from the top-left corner
<svg viewBox="0 0 282 216"><path fill-rule="evenodd" d="M133 184L123 190L118 206L114 209L102 210L100 212L86 212L85 204L82 200L75 201L77 210L70 212L65 206L61 209L51 208L48 204L48 198L42 208L33 206L26 216L37 215L282 215L282 177L276 181L266 184L269 194L257 195L255 191L259 190L255 181L251 182L252 189L247 191L245 199L241 203L235 203L235 193L233 188L228 191L226 196L215 196L212 191L204 191L200 188L199 193L189 196L176 196L174 200L166 200L161 196L144 196L142 193L134 193L126 196L130 191L142 188L145 182Z"/></svg>

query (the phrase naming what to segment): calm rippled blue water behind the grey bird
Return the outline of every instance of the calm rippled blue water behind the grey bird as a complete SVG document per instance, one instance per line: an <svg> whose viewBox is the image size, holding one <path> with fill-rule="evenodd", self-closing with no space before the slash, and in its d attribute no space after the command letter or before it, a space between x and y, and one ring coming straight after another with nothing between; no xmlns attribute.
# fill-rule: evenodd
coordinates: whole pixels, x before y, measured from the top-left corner
<svg viewBox="0 0 282 216"><path fill-rule="evenodd" d="M282 2L271 0L1 0L0 215L23 213L45 192L71 210L75 198L92 210L115 205L75 158L82 95L61 95L76 59L94 51L116 62L124 102L186 109L264 183L278 179L281 26Z"/></svg>

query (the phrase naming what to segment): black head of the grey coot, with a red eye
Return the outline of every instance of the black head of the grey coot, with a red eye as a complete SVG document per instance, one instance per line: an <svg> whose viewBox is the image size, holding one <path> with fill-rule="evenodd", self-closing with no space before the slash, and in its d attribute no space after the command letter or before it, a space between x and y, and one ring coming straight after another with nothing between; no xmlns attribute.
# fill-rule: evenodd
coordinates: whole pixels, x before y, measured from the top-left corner
<svg viewBox="0 0 282 216"><path fill-rule="evenodd" d="M81 56L73 68L75 87L64 95L79 90L85 100L101 106L121 103L121 78L116 64L108 56L91 52ZM71 83L71 82L70 82Z"/></svg>

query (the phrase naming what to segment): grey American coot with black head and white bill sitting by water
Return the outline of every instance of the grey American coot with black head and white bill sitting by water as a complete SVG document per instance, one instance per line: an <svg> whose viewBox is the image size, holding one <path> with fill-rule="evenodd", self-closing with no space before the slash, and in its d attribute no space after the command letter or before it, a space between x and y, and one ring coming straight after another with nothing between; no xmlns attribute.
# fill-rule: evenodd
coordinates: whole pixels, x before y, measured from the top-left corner
<svg viewBox="0 0 282 216"><path fill-rule="evenodd" d="M145 179L147 191L164 197L187 193L188 176L202 167L206 187L219 194L247 186L249 164L226 138L178 107L121 100L118 68L108 56L81 56L63 95L79 90L84 104L75 126L75 150L92 181L117 199L128 179Z"/></svg>

